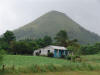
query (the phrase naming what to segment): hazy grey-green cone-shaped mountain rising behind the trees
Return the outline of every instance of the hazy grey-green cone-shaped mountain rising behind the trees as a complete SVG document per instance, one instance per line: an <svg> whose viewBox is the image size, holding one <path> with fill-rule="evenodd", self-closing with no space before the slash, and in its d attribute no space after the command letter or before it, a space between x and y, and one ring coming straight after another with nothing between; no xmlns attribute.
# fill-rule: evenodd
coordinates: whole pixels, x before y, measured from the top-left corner
<svg viewBox="0 0 100 75"><path fill-rule="evenodd" d="M40 38L45 35L54 37L60 30L66 30L70 39L78 39L82 44L95 43L100 37L81 27L64 13L51 11L35 21L14 31L18 40Z"/></svg>

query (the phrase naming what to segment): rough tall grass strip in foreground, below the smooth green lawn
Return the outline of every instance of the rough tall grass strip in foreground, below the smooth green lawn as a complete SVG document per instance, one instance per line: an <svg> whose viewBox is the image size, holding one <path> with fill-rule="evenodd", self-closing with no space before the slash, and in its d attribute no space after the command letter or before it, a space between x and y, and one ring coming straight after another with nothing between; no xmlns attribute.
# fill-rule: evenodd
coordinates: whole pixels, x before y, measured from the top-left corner
<svg viewBox="0 0 100 75"><path fill-rule="evenodd" d="M93 66L87 63L68 63L63 65L37 65L33 64L28 67L14 68L6 67L5 73L40 73L40 72L64 72L64 71L98 71L100 66Z"/></svg>

